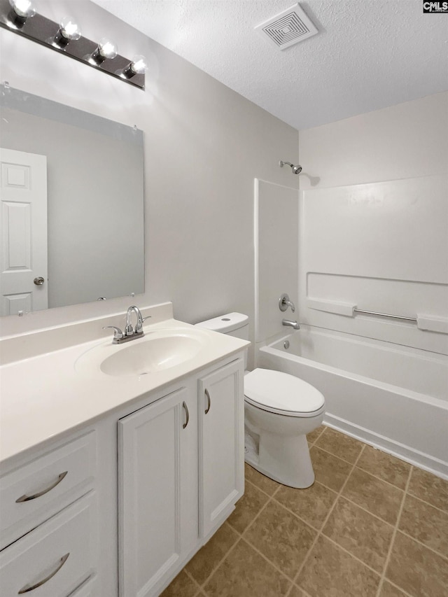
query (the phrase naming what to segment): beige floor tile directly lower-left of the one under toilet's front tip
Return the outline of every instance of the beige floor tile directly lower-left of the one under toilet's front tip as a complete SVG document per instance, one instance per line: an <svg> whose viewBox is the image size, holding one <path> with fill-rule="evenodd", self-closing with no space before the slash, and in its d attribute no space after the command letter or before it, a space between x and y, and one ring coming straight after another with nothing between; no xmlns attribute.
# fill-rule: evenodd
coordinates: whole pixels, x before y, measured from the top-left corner
<svg viewBox="0 0 448 597"><path fill-rule="evenodd" d="M283 506L270 502L262 516L249 526L244 538L293 579L316 535L316 531Z"/></svg>

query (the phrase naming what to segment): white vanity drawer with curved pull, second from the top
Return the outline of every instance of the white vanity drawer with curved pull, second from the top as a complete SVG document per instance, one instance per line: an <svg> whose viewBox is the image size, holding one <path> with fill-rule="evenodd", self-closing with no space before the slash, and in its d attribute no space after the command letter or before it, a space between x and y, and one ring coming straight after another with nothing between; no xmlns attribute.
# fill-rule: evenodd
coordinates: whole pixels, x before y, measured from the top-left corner
<svg viewBox="0 0 448 597"><path fill-rule="evenodd" d="M69 596L97 568L96 523L96 494L90 491L3 549L0 594Z"/></svg>

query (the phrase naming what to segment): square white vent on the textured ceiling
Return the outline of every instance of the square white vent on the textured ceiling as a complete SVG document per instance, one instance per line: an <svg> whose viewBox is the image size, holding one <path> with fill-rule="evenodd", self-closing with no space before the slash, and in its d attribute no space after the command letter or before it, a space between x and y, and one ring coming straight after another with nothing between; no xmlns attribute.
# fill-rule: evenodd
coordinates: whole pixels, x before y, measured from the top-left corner
<svg viewBox="0 0 448 597"><path fill-rule="evenodd" d="M280 50L289 48L290 45L299 43L299 41L318 33L318 30L299 4L294 4L271 19L257 25L255 31L258 31L264 38L269 39Z"/></svg>

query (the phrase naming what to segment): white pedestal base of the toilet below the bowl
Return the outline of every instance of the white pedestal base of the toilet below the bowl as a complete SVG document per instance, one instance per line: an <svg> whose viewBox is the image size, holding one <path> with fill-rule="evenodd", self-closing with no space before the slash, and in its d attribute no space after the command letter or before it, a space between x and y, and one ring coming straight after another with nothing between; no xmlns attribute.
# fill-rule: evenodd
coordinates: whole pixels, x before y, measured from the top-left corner
<svg viewBox="0 0 448 597"><path fill-rule="evenodd" d="M246 430L246 463L282 485L295 489L310 487L314 483L314 470L309 456L307 436L298 435L287 439L283 437L279 445L279 438L269 435L261 434L258 453L251 433Z"/></svg>

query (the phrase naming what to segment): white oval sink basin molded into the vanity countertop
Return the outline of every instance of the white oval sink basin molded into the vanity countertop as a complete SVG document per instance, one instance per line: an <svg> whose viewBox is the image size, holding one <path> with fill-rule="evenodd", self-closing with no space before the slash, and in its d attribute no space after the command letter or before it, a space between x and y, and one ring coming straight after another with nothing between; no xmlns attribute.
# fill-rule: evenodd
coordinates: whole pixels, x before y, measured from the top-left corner
<svg viewBox="0 0 448 597"><path fill-rule="evenodd" d="M102 344L85 352L76 361L80 372L100 372L115 377L141 377L195 358L205 342L195 332L159 330L129 344Z"/></svg>

